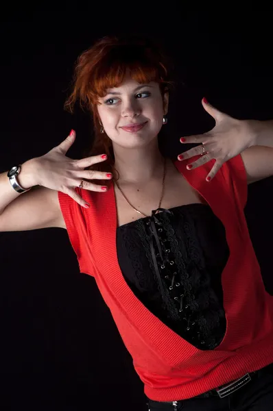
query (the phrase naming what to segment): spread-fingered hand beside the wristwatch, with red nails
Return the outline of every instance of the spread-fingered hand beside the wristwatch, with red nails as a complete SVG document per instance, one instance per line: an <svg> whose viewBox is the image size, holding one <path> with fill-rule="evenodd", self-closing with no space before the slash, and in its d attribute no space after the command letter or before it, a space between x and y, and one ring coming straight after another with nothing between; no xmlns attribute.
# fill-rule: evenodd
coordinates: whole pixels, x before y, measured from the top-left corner
<svg viewBox="0 0 273 411"><path fill-rule="evenodd" d="M62 191L79 203L80 206L86 207L86 201L77 194L75 187L80 186L82 182L82 188L86 190L106 192L106 186L93 184L86 180L111 179L112 174L102 171L84 170L88 166L105 161L106 155L93 155L81 160L73 160L67 157L66 153L74 141L75 131L71 130L69 136L60 145L54 147L41 157L29 160L32 162L32 177L35 178L35 182L32 185Z"/></svg>

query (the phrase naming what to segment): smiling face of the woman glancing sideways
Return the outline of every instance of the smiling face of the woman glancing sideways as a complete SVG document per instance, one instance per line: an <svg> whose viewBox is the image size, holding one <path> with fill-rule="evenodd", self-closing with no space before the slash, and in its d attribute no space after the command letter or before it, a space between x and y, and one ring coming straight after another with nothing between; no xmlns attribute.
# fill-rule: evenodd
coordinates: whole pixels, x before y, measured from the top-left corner
<svg viewBox="0 0 273 411"><path fill-rule="evenodd" d="M139 84L130 77L117 88L107 90L97 110L104 130L113 144L126 148L148 145L156 138L167 114L157 83Z"/></svg>

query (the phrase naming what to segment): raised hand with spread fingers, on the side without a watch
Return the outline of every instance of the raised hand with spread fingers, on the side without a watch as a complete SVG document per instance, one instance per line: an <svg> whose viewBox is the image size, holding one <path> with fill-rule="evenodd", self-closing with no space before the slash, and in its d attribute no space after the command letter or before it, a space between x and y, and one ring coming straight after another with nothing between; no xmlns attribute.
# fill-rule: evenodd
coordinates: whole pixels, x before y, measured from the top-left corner
<svg viewBox="0 0 273 411"><path fill-rule="evenodd" d="M180 142L183 144L200 143L202 145L193 147L178 155L178 160L186 160L194 155L202 154L198 160L187 165L187 169L193 170L196 167L202 166L202 164L215 159L216 161L215 164L213 164L213 168L206 176L206 181L210 181L222 167L224 162L240 154L251 145L254 145L255 121L233 119L233 117L228 116L228 114L217 110L209 104L206 99L202 99L202 105L206 112L215 119L215 127L204 134L180 138Z"/></svg>

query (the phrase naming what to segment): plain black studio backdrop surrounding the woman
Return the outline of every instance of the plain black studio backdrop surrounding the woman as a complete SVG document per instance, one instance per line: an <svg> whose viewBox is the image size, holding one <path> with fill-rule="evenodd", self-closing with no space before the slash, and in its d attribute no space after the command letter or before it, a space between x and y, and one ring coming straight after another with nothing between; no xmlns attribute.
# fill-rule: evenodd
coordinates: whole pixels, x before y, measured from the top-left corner
<svg viewBox="0 0 273 411"><path fill-rule="evenodd" d="M64 112L78 55L108 34L147 34L174 61L166 150L206 132L202 97L238 119L272 119L270 12L182 2L5 5L0 18L0 171L43 155L73 128L69 151L91 142L87 114ZM272 137L273 138L273 137ZM184 146L185 147L185 146ZM183 147L183 149L185 149ZM267 290L272 281L272 177L249 187L246 217ZM62 229L0 233L1 410L145 410L132 367L95 280L79 273Z"/></svg>

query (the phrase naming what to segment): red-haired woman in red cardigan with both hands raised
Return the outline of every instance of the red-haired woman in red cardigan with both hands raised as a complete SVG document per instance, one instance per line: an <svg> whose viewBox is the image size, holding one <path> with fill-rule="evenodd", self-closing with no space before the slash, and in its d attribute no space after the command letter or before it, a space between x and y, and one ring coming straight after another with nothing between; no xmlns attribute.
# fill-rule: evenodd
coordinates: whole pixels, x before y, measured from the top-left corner
<svg viewBox="0 0 273 411"><path fill-rule="evenodd" d="M244 217L247 184L273 175L272 122L238 121L203 99L216 125L182 138L200 145L173 162L157 140L170 85L144 40L104 38L84 52L67 107L80 99L93 114L93 155L66 156L72 131L0 175L0 231L67 229L150 410L272 410L273 297Z"/></svg>

